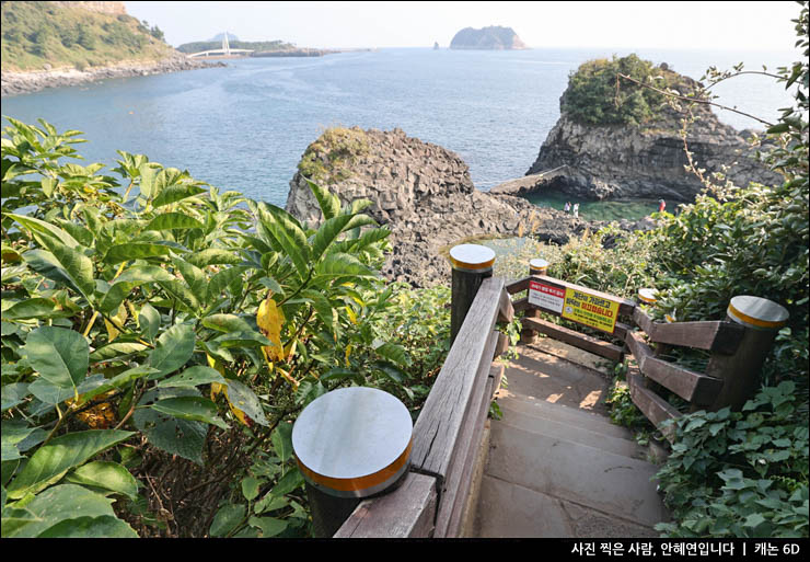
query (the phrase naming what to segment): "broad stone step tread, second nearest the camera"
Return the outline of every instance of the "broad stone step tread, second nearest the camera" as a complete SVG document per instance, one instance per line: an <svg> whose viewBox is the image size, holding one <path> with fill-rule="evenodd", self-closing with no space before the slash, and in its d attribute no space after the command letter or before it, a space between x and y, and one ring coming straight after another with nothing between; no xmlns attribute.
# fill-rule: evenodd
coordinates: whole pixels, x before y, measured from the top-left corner
<svg viewBox="0 0 810 562"><path fill-rule="evenodd" d="M491 432L487 475L646 527L667 519L655 464L500 422Z"/></svg>

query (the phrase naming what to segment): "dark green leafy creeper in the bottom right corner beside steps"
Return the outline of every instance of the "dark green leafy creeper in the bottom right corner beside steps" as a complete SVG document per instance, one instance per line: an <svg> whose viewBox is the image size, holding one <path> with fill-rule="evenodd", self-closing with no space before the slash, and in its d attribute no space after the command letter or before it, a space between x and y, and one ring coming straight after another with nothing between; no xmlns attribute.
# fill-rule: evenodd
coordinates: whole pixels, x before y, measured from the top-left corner
<svg viewBox="0 0 810 562"><path fill-rule="evenodd" d="M807 537L808 426L791 381L764 388L742 412L675 422L657 474L673 523L664 537Z"/></svg>

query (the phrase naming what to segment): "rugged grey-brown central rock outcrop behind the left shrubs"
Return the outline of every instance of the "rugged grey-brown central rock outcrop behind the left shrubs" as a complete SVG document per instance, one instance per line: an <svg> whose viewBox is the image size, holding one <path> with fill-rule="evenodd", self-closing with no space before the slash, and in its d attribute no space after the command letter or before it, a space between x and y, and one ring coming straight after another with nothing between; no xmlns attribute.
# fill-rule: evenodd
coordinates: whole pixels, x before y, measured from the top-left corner
<svg viewBox="0 0 810 562"><path fill-rule="evenodd" d="M477 191L458 154L401 129L350 130L354 137L364 136L366 148L347 167L350 174L342 169L337 181L322 184L343 204L373 202L366 213L391 230L393 251L383 266L390 279L415 286L449 283L450 266L441 250L470 237L532 232L540 240L566 243L590 226L519 197ZM323 163L335 161L323 142L313 142L304 152L306 161L313 157ZM290 182L287 210L313 227L321 221L321 210L301 172Z"/></svg>

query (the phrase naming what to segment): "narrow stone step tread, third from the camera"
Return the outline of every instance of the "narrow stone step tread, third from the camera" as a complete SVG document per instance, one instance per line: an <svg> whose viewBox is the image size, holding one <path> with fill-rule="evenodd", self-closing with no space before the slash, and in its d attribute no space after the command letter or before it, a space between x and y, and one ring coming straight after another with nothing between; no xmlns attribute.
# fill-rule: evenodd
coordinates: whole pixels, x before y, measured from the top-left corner
<svg viewBox="0 0 810 562"><path fill-rule="evenodd" d="M501 410L509 409L521 414L581 427L589 432L633 440L633 434L628 429L612 424L609 417L593 411L502 391L499 393L497 403Z"/></svg>

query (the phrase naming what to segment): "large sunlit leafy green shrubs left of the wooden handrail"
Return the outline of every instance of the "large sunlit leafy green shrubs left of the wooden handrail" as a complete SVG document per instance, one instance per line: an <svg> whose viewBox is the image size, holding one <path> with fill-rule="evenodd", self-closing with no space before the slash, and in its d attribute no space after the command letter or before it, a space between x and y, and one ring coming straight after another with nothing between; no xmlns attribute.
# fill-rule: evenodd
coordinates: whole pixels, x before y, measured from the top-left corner
<svg viewBox="0 0 810 562"><path fill-rule="evenodd" d="M79 131L8 121L3 536L305 535L290 421L342 385L418 408L447 295L383 290L369 202L311 184L308 229L142 154L63 163Z"/></svg>

